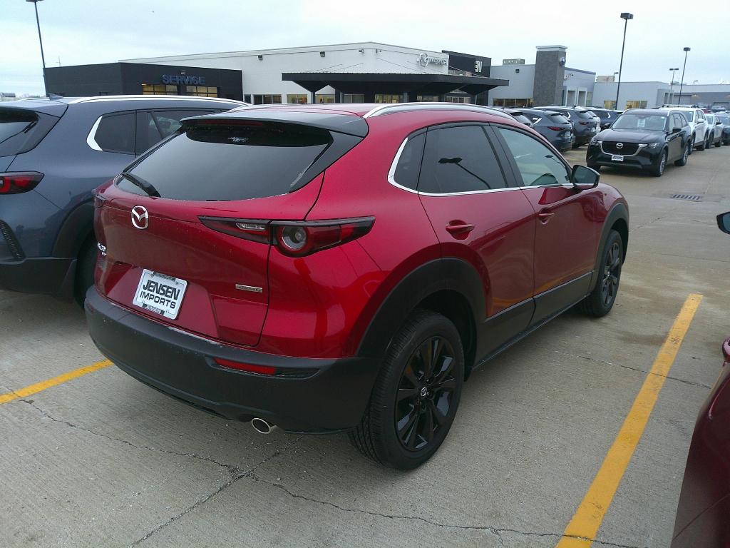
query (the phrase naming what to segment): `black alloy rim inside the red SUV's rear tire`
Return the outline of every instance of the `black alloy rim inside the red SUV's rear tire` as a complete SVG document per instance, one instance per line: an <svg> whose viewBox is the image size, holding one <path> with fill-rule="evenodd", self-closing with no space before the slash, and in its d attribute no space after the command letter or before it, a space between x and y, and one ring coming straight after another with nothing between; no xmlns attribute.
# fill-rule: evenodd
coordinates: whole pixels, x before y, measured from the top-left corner
<svg viewBox="0 0 730 548"><path fill-rule="evenodd" d="M396 433L408 451L425 448L445 424L456 389L455 363L451 344L440 336L424 340L408 359L395 412Z"/></svg>

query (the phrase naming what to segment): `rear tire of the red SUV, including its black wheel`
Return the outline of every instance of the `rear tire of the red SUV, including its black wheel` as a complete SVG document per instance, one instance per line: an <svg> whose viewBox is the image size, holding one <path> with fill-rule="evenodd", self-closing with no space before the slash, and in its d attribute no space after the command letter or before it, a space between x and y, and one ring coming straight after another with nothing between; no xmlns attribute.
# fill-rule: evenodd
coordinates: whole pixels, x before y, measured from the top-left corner
<svg viewBox="0 0 730 548"><path fill-rule="evenodd" d="M433 368L429 373L426 361L431 360L422 359L433 348L439 349L440 373L433 373ZM350 441L377 463L400 470L417 468L446 438L463 384L464 349L454 324L439 313L414 311L393 338L360 425L349 433Z"/></svg>

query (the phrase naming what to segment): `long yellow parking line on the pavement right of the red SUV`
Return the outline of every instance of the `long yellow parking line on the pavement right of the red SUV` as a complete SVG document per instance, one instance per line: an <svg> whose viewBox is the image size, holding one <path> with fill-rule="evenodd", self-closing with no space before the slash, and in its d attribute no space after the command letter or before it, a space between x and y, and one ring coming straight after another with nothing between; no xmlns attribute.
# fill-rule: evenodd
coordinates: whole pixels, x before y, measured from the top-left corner
<svg viewBox="0 0 730 548"><path fill-rule="evenodd" d="M565 528L557 548L585 548L593 544L593 539L596 538L596 533L598 533L601 522L618 489L618 484L629 465L631 455L634 454L634 449L644 433L661 387L664 386L664 380L669 374L669 368L672 367L672 363L677 357L677 351L685 338L700 301L702 301L702 295L694 293L685 300L672 329L669 330L664 344L659 349L654 365L634 400L634 405L631 406L629 415L623 421L621 430L618 431L591 487L588 487L585 498Z"/></svg>

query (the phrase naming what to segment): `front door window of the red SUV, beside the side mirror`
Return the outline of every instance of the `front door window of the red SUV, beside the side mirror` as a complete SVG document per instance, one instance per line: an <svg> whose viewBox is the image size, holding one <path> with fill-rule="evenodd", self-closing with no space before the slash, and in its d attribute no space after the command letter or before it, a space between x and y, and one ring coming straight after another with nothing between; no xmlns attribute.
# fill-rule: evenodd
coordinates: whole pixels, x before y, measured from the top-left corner
<svg viewBox="0 0 730 548"><path fill-rule="evenodd" d="M570 182L565 164L556 153L529 135L499 128L515 159L524 186L560 185Z"/></svg>

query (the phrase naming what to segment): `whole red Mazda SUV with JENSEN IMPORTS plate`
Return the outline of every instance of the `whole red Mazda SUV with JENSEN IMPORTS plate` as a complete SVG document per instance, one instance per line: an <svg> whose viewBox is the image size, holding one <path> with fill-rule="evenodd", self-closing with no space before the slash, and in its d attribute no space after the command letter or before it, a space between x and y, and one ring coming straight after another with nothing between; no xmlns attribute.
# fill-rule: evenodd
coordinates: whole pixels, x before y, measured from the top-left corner
<svg viewBox="0 0 730 548"><path fill-rule="evenodd" d="M612 308L626 200L476 105L187 118L95 197L96 346L268 433L347 431L415 468L473 368L566 309Z"/></svg>

